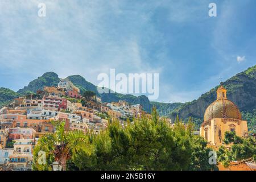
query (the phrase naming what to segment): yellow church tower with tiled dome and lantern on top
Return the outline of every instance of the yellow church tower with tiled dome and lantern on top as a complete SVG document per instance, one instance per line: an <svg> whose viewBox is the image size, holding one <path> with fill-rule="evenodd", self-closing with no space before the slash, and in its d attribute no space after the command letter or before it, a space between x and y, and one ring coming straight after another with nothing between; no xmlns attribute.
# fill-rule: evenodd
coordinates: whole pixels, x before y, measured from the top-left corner
<svg viewBox="0 0 256 182"><path fill-rule="evenodd" d="M200 135L210 144L221 146L226 131L234 131L239 137L248 135L247 122L242 120L238 107L226 97L226 89L221 82L217 100L205 110Z"/></svg>

